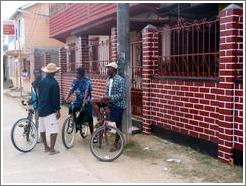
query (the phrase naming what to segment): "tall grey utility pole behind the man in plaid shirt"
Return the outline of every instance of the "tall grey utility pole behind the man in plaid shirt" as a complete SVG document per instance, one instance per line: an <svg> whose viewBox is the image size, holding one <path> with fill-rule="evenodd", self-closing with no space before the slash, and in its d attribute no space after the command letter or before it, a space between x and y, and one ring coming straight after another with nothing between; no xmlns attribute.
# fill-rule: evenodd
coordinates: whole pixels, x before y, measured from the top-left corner
<svg viewBox="0 0 246 186"><path fill-rule="evenodd" d="M122 128L126 134L132 133L131 115L131 82L132 69L130 64L130 42L129 42L129 6L126 3L117 4L117 56L119 75L125 78L127 108L123 113ZM127 135L128 136L128 135ZM127 138L128 143L128 138Z"/></svg>

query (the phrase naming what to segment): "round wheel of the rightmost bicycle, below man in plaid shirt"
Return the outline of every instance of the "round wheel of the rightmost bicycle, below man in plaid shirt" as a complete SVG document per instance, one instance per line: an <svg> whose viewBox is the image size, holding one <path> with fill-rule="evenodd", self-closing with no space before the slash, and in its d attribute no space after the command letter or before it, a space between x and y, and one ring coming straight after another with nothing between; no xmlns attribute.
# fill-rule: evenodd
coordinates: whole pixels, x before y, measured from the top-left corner
<svg viewBox="0 0 246 186"><path fill-rule="evenodd" d="M116 136L118 136L117 148L111 151L115 144ZM92 134L90 150L98 160L110 162L117 159L123 153L124 144L124 136L119 129L112 126L101 126Z"/></svg>

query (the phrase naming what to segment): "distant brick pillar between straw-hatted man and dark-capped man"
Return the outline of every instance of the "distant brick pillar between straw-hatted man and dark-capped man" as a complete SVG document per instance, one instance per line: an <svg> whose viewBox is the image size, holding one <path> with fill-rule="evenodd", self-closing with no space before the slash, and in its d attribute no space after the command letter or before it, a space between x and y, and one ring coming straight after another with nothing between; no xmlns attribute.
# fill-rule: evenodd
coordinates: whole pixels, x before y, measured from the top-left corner
<svg viewBox="0 0 246 186"><path fill-rule="evenodd" d="M65 92L63 90L63 73L67 71L67 51L65 48L60 48L59 50L59 67L61 69L57 73L57 80L60 85L60 98L61 98L61 103L63 103L65 99Z"/></svg>

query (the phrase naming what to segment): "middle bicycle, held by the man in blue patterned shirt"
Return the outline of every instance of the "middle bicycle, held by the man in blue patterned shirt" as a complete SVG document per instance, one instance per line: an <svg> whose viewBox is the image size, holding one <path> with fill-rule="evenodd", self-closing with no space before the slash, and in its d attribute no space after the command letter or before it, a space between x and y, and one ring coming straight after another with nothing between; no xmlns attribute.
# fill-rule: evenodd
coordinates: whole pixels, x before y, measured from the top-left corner
<svg viewBox="0 0 246 186"><path fill-rule="evenodd" d="M82 138L86 138L89 129L89 123L85 120L83 122L78 121L80 114L86 111L86 105L83 104L81 109L74 115L69 115L62 125L62 142L63 145L70 149L74 145L76 133L79 131Z"/></svg>

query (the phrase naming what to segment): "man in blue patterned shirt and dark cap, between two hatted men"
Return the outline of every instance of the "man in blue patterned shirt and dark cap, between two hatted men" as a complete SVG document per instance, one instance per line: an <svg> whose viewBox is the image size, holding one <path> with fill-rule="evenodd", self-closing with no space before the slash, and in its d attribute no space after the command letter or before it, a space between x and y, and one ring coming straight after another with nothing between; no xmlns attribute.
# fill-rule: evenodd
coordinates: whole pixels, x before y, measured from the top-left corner
<svg viewBox="0 0 246 186"><path fill-rule="evenodd" d="M79 111L83 103L87 107L87 122L89 123L90 133L93 133L93 117L92 117L92 104L91 104L91 81L85 76L85 71L82 67L76 69L76 79L73 80L72 85L69 89L68 95L65 101L70 102L70 97L75 93L76 99L69 105L69 114L73 114ZM77 126L79 127L81 122L84 121L85 115L80 114L77 118Z"/></svg>

